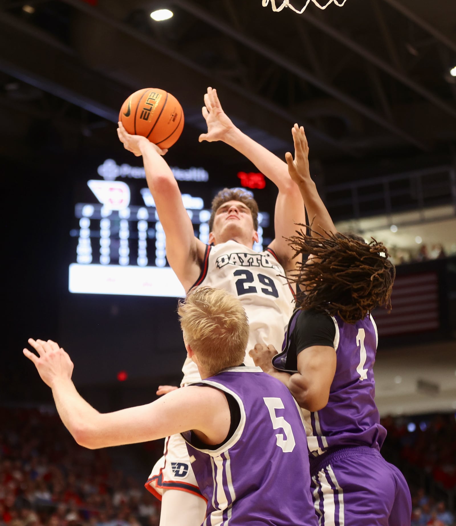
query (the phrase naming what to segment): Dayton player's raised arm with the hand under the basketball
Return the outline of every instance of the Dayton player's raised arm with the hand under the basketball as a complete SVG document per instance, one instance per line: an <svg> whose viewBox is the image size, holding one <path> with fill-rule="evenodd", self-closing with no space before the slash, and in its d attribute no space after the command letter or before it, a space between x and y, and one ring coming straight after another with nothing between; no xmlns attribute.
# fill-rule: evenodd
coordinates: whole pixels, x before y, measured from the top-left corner
<svg viewBox="0 0 456 526"><path fill-rule="evenodd" d="M143 156L146 180L166 235L166 257L179 281L188 290L198 279L204 244L195 237L173 172L162 150L146 137L130 135L121 123L117 133L125 149Z"/></svg>

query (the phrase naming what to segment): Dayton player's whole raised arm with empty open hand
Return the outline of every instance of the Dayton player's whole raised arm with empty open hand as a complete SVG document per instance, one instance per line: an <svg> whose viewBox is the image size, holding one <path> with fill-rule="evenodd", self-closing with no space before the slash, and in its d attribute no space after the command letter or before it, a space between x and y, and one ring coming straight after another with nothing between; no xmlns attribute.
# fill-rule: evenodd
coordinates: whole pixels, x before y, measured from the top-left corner
<svg viewBox="0 0 456 526"><path fill-rule="evenodd" d="M287 164L253 139L242 133L226 115L221 107L215 89L208 88L204 96L205 106L202 114L206 119L208 131L199 140L209 142L222 140L245 155L279 189L275 210L275 240L270 248L279 257L283 268L294 270L293 251L285 238L295 233L296 223L306 221L305 209L296 184L290 179Z"/></svg>

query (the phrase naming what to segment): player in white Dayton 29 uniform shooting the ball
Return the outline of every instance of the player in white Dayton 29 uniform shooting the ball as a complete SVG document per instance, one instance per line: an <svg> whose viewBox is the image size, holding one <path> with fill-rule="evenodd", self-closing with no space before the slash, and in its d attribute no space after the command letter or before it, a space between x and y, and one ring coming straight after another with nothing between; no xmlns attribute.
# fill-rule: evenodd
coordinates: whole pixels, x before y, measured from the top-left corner
<svg viewBox="0 0 456 526"><path fill-rule="evenodd" d="M295 305L288 281L281 277L294 270L296 262L286 238L294 234L295 222L306 221L302 198L290 179L286 163L234 125L211 87L204 95L202 117L207 133L200 135L200 141L222 141L235 148L277 187L275 239L262 252L254 249L254 242L258 241L258 205L250 193L226 188L215 196L206 245L195 237L177 181L163 157L166 151L146 137L129 135L121 123L118 135L127 150L143 156L147 184L166 235L166 258L184 289L210 286L230 292L239 299L249 320L246 351L258 342L279 348ZM330 229L332 222L325 222L326 209L321 200L323 211L313 206L317 201L314 203L312 199L309 199L309 216L318 215L319 224ZM218 342L218 351L225 352L222 342ZM248 354L245 364L253 365ZM192 360L187 359L182 370L182 387L200 379ZM157 393L162 395L171 389L160 386ZM185 477L173 471L173 465L177 464L187 467ZM206 502L201 499L180 435L166 441L164 457L155 464L146 487L161 499L160 526L199 526L205 520Z"/></svg>

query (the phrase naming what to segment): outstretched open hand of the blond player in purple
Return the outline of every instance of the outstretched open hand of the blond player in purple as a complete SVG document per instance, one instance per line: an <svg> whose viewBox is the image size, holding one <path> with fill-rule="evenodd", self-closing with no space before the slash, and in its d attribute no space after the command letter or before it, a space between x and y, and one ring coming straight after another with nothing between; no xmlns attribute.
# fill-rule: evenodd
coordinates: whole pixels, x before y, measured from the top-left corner
<svg viewBox="0 0 456 526"><path fill-rule="evenodd" d="M28 343L38 353L36 356L28 349L24 349L24 355L33 363L38 370L41 379L51 389L57 380L70 380L73 373L73 362L68 354L52 340L34 340L30 338Z"/></svg>

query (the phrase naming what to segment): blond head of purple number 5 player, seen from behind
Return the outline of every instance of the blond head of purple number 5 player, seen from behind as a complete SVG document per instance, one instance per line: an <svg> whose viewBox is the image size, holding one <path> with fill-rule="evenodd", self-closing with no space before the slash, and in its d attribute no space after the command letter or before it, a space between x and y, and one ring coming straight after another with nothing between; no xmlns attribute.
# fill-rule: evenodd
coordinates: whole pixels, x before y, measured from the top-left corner
<svg viewBox="0 0 456 526"><path fill-rule="evenodd" d="M226 290L198 287L177 312L185 342L210 376L244 361L249 323L237 298Z"/></svg>

